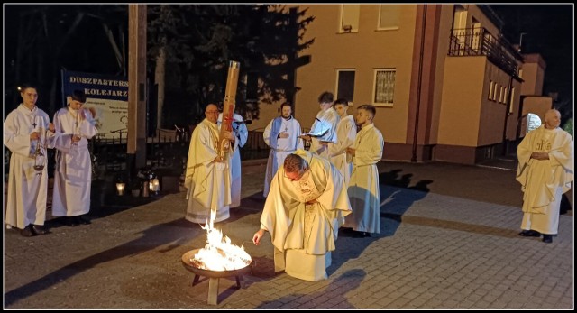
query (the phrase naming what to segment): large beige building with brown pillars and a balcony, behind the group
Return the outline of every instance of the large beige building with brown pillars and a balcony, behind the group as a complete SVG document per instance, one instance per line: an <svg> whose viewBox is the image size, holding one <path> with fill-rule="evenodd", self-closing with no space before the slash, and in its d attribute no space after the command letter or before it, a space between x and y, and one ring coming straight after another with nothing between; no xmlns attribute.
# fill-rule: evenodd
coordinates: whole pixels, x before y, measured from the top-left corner
<svg viewBox="0 0 577 313"><path fill-rule="evenodd" d="M518 139L523 57L487 5L289 5L315 16L298 57L294 114L310 127L324 91L377 107L383 159L474 164ZM537 71L535 71L537 72ZM542 73L541 73L542 74ZM527 71L525 75L533 75ZM535 88L542 78L531 80ZM260 106L264 127L278 106Z"/></svg>

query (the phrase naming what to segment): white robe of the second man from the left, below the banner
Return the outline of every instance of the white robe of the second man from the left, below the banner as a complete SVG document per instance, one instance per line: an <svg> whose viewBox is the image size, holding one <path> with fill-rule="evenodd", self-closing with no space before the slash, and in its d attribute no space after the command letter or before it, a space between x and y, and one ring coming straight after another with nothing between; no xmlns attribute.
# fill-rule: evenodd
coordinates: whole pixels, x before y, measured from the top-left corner
<svg viewBox="0 0 577 313"><path fill-rule="evenodd" d="M94 137L98 130L90 111L82 110L86 116L82 120L77 111L69 107L61 108L54 115L54 126L62 135L54 143L57 151L52 193L53 216L80 216L90 210L92 162L88 139ZM82 137L78 143L72 143L73 134Z"/></svg>

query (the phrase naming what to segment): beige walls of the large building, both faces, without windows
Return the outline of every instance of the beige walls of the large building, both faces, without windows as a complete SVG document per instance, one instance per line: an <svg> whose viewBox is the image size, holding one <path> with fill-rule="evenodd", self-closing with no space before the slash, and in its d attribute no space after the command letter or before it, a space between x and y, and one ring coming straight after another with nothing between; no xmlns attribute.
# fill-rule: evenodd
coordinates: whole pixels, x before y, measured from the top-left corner
<svg viewBox="0 0 577 313"><path fill-rule="evenodd" d="M351 115L356 115L357 106L373 104L374 69L396 69L394 104L378 106L374 122L389 149L398 149L391 155L406 158L415 130L422 5L402 5L399 28L386 31L377 30L380 5L361 5L358 32L350 33L339 32L341 5L289 5L292 6L298 6L299 11L307 9L307 16L316 17L302 39L314 39L314 43L299 54L310 56L310 63L296 73L297 87L301 89L295 96L294 115L301 126L308 128L313 124L319 110L317 98L322 92L335 93L337 69L355 70ZM515 138L521 83L511 80L484 56L447 56L453 6L427 5L417 144L442 146L444 153L449 154L454 149L467 149L469 159L474 161L476 147L501 143L505 128L507 138ZM499 35L499 29L478 7L463 6L470 10L468 27L474 17L493 35ZM498 86L495 101L488 98L490 81ZM499 95L501 87L504 93L511 84L516 91L508 110ZM260 108L260 120L253 121L252 130L263 129L279 115L279 103L261 104Z"/></svg>

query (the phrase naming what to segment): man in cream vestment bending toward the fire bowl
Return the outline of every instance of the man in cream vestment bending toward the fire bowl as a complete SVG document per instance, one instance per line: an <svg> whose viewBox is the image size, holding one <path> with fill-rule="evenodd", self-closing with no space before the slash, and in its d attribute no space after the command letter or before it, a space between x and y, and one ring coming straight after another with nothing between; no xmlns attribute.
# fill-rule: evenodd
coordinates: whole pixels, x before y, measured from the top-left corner
<svg viewBox="0 0 577 313"><path fill-rule="evenodd" d="M327 278L339 217L351 213L343 177L330 161L305 150L289 154L270 185L261 228L274 245L275 272L305 281Z"/></svg>

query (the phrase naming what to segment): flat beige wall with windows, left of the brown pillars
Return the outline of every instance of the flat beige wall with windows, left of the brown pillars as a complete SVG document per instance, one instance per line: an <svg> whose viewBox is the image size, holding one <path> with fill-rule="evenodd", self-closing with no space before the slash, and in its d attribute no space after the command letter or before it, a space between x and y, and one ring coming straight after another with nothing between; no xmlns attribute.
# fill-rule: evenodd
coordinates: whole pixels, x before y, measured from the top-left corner
<svg viewBox="0 0 577 313"><path fill-rule="evenodd" d="M405 143L408 97L415 38L416 5L402 5L398 30L377 31L379 5L361 5L359 32L338 33L340 5L298 5L316 16L303 41L315 42L301 55L311 62L297 70L296 117L310 127L319 110L317 98L324 91L334 93L336 69L355 69L354 107L372 104L374 69L396 69L393 107L378 107L375 125L387 142ZM336 97L336 95L335 95Z"/></svg>

